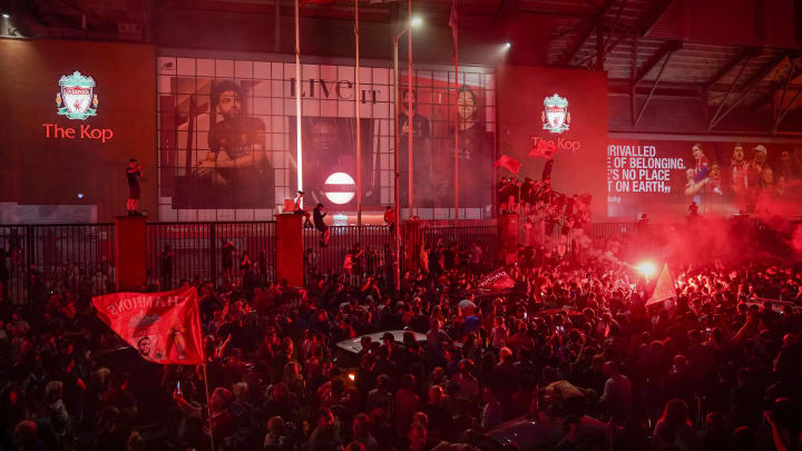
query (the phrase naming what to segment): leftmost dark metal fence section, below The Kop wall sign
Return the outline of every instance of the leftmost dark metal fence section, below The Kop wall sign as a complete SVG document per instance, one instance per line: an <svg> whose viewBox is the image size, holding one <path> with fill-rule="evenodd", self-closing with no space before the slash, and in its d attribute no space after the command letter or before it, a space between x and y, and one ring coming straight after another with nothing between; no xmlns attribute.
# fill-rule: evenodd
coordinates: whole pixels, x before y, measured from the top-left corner
<svg viewBox="0 0 802 451"><path fill-rule="evenodd" d="M3 297L107 293L116 283L114 233L114 224L0 225Z"/></svg>

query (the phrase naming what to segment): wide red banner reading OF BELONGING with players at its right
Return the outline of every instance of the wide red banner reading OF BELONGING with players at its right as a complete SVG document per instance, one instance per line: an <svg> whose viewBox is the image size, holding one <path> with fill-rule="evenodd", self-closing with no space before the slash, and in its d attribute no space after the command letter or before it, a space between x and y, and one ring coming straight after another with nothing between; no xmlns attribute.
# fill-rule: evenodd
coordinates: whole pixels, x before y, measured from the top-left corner
<svg viewBox="0 0 802 451"><path fill-rule="evenodd" d="M610 139L606 154L610 217L663 220L692 203L703 215L800 212L802 148L793 144Z"/></svg>

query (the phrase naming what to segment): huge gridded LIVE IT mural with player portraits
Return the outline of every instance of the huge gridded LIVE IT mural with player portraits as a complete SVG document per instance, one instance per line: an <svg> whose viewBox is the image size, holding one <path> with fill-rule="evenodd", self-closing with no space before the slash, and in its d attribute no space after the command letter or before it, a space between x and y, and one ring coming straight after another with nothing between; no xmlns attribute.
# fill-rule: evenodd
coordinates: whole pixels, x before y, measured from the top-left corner
<svg viewBox="0 0 802 451"><path fill-rule="evenodd" d="M358 166L362 209L383 212L394 203L390 65L361 66L358 87L353 63L304 62L297 80L295 65L276 56L245 60L225 52L215 52L215 58L207 52L198 57L183 50L158 52L159 220L274 219L284 200L295 197L299 168L309 208L322 203L332 214L354 214ZM491 216L495 77L489 68L460 69L454 87L453 69L418 68L410 112L408 76L404 70L399 73L401 204L408 205L412 117L413 198L421 218L448 218L453 210L457 115L460 217ZM301 120L295 107L299 94Z"/></svg>

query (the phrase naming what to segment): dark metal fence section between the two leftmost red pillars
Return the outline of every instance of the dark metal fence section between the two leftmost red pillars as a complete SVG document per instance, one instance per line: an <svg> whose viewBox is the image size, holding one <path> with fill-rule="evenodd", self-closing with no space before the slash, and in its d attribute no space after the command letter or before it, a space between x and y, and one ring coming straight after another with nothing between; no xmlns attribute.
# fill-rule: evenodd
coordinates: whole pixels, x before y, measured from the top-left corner
<svg viewBox="0 0 802 451"><path fill-rule="evenodd" d="M168 290L183 280L241 282L246 253L257 284L275 281L275 222L148 223L147 283Z"/></svg>

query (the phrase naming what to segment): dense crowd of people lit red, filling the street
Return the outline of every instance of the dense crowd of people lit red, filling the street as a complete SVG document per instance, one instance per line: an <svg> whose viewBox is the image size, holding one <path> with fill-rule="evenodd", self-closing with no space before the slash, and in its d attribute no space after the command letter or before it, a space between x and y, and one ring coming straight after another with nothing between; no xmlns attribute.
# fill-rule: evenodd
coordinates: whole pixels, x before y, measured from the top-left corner
<svg viewBox="0 0 802 451"><path fill-rule="evenodd" d="M519 419L557 431L539 437L560 451L802 449L802 267L672 265L677 296L646 305L654 278L609 244L585 258L522 247L498 292L477 288L481 247L450 243L424 243L438 264L404 273L400 293L353 266L305 287L194 281L205 367L119 357L91 292L68 286L32 310L4 302L0 441L516 450L488 438ZM360 346L336 346L345 340Z"/></svg>

